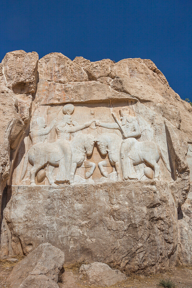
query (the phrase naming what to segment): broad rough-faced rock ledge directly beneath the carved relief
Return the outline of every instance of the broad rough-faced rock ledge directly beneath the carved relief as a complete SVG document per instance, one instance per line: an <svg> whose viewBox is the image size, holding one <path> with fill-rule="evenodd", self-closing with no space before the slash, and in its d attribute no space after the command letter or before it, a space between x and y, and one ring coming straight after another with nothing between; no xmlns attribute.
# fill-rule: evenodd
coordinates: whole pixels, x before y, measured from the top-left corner
<svg viewBox="0 0 192 288"><path fill-rule="evenodd" d="M12 185L4 217L13 253L49 242L74 259L158 271L172 265L177 208L165 181L52 187Z"/></svg>

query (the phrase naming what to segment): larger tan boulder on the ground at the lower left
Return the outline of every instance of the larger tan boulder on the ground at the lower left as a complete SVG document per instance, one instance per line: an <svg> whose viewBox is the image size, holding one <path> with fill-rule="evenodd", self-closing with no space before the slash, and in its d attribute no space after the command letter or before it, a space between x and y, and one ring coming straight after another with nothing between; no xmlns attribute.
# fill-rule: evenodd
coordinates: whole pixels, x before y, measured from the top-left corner
<svg viewBox="0 0 192 288"><path fill-rule="evenodd" d="M48 280L51 280L51 283L52 281L57 282L64 261L65 255L60 249L49 243L41 244L14 267L8 281L10 281L12 288L20 287L20 285L23 288L28 287L27 285L29 287L39 287L35 286L37 285L35 282L40 285L39 282L44 283ZM46 278L39 278L41 275L46 276Z"/></svg>

